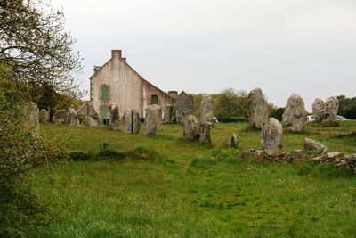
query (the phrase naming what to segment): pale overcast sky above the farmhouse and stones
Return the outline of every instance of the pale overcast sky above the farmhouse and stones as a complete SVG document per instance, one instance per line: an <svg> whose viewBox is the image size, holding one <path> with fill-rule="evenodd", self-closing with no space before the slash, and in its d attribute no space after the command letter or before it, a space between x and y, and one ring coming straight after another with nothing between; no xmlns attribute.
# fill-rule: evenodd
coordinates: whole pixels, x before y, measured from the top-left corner
<svg viewBox="0 0 356 238"><path fill-rule="evenodd" d="M285 106L300 94L356 96L355 0L53 0L84 57L83 88L93 65L121 49L161 89L219 93L261 87Z"/></svg>

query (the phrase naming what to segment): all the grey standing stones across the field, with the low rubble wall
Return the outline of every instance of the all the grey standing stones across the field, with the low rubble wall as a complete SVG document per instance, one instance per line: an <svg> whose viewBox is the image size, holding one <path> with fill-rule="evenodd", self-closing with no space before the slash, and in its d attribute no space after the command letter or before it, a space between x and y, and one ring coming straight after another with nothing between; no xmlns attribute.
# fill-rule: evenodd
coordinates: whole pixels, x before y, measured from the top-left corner
<svg viewBox="0 0 356 238"><path fill-rule="evenodd" d="M268 118L267 101L260 88L255 88L248 94L247 114L251 127L261 128L261 144L263 151L251 149L244 152L244 158L248 156L257 156L264 160L315 160L324 163L332 163L337 166L351 168L356 172L356 156L344 156L341 152L328 152L327 150L316 149L312 153L309 148L317 148L310 144L319 144L311 139L305 139L304 152L282 152L282 134L283 128L292 132L301 132L305 129L307 121L307 111L304 107L303 98L297 94L292 94L287 100L285 112L283 113L282 123L277 119ZM316 99L312 104L314 119L318 122L337 121L338 100L336 97L330 97L326 102ZM193 97L182 91L178 96L176 108L173 105L166 106L162 121L162 110L158 105L151 105L146 108L145 117L145 134L157 135L159 124L178 122L183 125L183 137L187 141L199 140L203 144L211 143L210 131L214 122L214 102L209 94L202 94L200 103L200 118L192 115ZM49 122L49 113L42 109L38 110L36 103L31 103L29 110L30 127L35 128L38 132L39 121L41 123ZM76 111L73 107L68 110L59 110L53 115L53 123L69 124L70 126L79 126L77 115L85 115L85 125L95 127L99 124L99 115L94 110L92 103L85 103ZM109 107L108 127L114 130L119 125L118 107L113 104ZM123 132L125 134L138 134L140 131L140 116L135 110L125 111L123 117ZM232 134L226 143L228 147L238 147L239 138ZM323 145L324 146L324 145ZM324 147L323 147L324 148ZM326 147L325 147L326 148ZM318 155L312 158L312 155ZM273 158L273 159L272 159Z"/></svg>

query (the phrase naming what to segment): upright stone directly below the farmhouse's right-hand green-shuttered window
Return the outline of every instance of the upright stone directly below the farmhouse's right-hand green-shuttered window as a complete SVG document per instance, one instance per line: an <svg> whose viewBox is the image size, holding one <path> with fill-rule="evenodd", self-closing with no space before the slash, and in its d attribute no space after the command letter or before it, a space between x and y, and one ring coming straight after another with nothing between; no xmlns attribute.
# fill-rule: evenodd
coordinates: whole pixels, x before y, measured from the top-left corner
<svg viewBox="0 0 356 238"><path fill-rule="evenodd" d="M162 110L158 105L150 105L146 108L145 134L157 135L159 122L162 119Z"/></svg>

